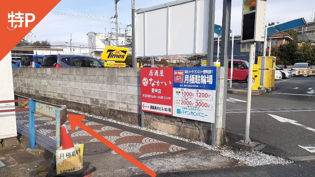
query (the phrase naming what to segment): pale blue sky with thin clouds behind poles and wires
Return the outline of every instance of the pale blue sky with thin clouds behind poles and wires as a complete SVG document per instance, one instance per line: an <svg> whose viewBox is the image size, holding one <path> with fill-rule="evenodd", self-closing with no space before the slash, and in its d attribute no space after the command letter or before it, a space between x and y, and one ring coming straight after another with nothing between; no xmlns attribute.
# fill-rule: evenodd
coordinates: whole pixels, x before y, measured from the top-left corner
<svg viewBox="0 0 315 177"><path fill-rule="evenodd" d="M135 0L135 7L136 9L145 8L170 1L172 0ZM218 24L222 23L222 3L222 0L216 1L215 23ZM118 22L131 24L131 0L120 0L117 6ZM284 22L299 17L310 20L312 8L315 11L314 0L268 0L266 24L276 21ZM114 19L106 18L115 14L114 0L61 0L52 11L58 14L49 13L32 29L32 32L36 36L33 37L33 41L47 39L52 45L62 45L62 43L70 40L70 34L72 33L72 41L75 46L80 44L87 45L88 38L86 34L88 32L104 32L105 28L107 28L108 32L112 30L111 28L115 27L113 23L108 23ZM59 14L79 14L81 17L85 16L83 18L92 15L102 16L104 17L103 21L108 22L74 18ZM232 0L231 28L235 31L235 35L240 35L241 20L242 0ZM120 27L125 28L123 25L120 25Z"/></svg>

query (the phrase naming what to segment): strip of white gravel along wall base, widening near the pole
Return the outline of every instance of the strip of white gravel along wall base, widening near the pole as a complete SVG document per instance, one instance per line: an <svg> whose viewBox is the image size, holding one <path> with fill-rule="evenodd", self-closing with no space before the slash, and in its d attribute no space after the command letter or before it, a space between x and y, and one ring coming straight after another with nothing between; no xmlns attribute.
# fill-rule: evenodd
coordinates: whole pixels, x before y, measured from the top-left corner
<svg viewBox="0 0 315 177"><path fill-rule="evenodd" d="M106 117L101 117L101 116L95 116L94 114L89 114L89 113L85 113L85 112L80 112L80 111L75 111L72 109L67 109L68 111L71 112L76 112L79 114L83 114L85 116L90 116L90 117L94 117L94 118L98 118L101 120L106 120L109 122L113 122L113 123L118 123L121 125L125 125L128 127L132 127L132 128L137 128L137 129L141 129L141 130L145 130L148 132L152 132L152 133L156 133L156 134L162 134L171 138L175 138L178 140L182 140L182 141L187 141L187 142L191 142L203 147L206 147L208 149L211 149L213 151L217 151L219 154L221 154L222 156L225 157L229 157L229 158L234 158L236 160L239 161L239 163L245 163L247 166L260 166L260 165L275 165L275 164L289 164L289 163L293 163L293 161L289 160L289 159L284 159L282 157L276 157L276 156L272 156L272 155L268 155L268 154L264 154L260 151L254 151L252 153L248 152L248 151L243 151L243 150L238 150L232 147L228 147L228 146L219 146L219 147L212 147L208 144L199 142L199 141L191 141L188 140L186 138L181 138L178 136L174 136L159 130L152 130L150 128L141 128L139 126L135 126L135 125L131 125L128 123L122 123L122 122L118 122L115 121L113 119L108 119Z"/></svg>

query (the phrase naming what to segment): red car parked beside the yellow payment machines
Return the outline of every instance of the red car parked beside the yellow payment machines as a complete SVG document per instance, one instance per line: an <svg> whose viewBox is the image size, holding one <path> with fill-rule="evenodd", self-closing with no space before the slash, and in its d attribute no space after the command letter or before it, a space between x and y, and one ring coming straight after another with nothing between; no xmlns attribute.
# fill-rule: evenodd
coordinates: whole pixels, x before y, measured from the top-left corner
<svg viewBox="0 0 315 177"><path fill-rule="evenodd" d="M220 61L220 60L219 60ZM233 60L233 81L248 81L248 61ZM229 60L228 79L231 76L231 60Z"/></svg>

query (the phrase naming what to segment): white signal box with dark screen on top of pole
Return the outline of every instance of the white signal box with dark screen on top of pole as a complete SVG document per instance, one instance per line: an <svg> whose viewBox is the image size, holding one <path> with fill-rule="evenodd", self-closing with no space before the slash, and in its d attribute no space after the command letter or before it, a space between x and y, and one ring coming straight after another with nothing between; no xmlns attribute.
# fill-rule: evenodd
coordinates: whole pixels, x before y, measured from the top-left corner
<svg viewBox="0 0 315 177"><path fill-rule="evenodd" d="M241 42L264 41L266 0L243 0Z"/></svg>

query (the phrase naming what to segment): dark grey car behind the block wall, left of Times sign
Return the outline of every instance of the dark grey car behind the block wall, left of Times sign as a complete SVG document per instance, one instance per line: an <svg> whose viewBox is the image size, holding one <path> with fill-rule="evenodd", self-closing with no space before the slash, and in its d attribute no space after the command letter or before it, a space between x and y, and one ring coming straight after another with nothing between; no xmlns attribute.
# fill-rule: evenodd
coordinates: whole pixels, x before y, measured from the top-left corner
<svg viewBox="0 0 315 177"><path fill-rule="evenodd" d="M77 68L77 67L104 67L102 63L92 57L82 55L53 54L45 55L41 68Z"/></svg>

